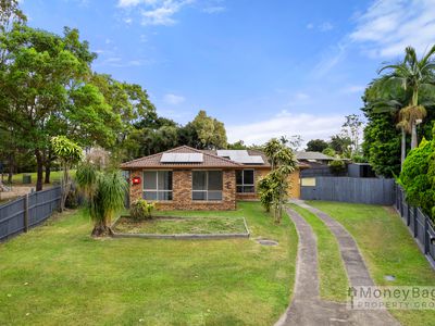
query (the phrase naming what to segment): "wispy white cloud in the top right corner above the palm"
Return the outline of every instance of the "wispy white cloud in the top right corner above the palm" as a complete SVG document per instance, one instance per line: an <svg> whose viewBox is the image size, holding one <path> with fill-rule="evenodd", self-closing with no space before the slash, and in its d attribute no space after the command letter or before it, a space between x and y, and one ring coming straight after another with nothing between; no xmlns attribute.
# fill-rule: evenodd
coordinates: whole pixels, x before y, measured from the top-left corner
<svg viewBox="0 0 435 326"><path fill-rule="evenodd" d="M394 58L408 46L422 53L435 43L435 0L376 0L357 24L350 39L370 57Z"/></svg>

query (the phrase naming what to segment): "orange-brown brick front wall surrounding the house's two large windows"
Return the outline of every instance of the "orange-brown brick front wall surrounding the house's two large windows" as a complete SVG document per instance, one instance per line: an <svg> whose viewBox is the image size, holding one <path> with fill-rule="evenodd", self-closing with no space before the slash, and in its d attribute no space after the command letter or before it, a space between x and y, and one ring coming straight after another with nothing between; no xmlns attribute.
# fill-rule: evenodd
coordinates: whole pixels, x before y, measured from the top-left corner
<svg viewBox="0 0 435 326"><path fill-rule="evenodd" d="M132 178L140 176L141 171L132 171ZM172 196L171 201L160 201L158 210L212 210L228 211L236 209L236 173L234 170L223 171L223 193L222 201L197 201L191 200L191 171L174 170L172 173ZM130 202L140 199L142 185L130 185Z"/></svg>

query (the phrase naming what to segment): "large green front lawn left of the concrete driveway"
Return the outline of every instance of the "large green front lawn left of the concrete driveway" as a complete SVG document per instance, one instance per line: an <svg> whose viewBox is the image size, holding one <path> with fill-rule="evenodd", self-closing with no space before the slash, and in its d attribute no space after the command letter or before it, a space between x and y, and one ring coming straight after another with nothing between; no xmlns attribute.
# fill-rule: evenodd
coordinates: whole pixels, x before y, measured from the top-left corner
<svg viewBox="0 0 435 326"><path fill-rule="evenodd" d="M246 217L252 238L96 240L78 211L1 243L0 324L272 325L293 291L295 228L259 203L219 214Z"/></svg>

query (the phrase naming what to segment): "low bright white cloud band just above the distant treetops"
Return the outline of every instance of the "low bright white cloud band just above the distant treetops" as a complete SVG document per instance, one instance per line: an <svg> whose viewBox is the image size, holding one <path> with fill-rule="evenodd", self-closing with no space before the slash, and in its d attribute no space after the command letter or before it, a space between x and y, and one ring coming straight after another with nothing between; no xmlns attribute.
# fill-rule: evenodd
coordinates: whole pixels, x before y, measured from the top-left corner
<svg viewBox="0 0 435 326"><path fill-rule="evenodd" d="M264 143L272 137L301 135L304 141L328 139L339 133L343 115L313 115L306 113L282 113L259 123L229 125L228 141L243 139L246 143Z"/></svg>

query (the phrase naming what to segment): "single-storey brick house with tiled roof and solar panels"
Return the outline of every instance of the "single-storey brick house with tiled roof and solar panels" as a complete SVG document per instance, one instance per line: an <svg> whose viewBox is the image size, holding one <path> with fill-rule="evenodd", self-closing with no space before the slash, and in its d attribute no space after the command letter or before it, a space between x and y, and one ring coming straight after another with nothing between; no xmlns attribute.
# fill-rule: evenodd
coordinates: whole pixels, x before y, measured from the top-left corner
<svg viewBox="0 0 435 326"><path fill-rule="evenodd" d="M130 202L145 198L160 210L235 210L236 200L257 200L257 181L271 165L261 151L197 150L187 146L123 163ZM299 198L299 171L290 175Z"/></svg>

